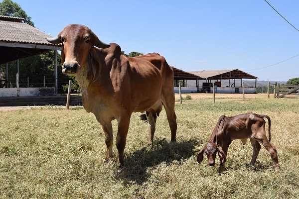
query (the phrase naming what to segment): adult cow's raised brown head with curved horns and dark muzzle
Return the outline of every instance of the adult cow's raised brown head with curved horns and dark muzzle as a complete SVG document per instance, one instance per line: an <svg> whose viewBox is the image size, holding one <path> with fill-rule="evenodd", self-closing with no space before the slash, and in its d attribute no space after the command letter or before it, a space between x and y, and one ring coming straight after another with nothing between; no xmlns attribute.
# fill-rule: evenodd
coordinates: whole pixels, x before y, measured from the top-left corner
<svg viewBox="0 0 299 199"><path fill-rule="evenodd" d="M62 43L61 63L62 73L75 76L87 67L88 58L94 54L93 46L109 48L110 45L102 42L86 26L70 24L66 26L55 38L47 39L53 44ZM92 65L92 63L91 63ZM92 73L95 73L90 69ZM95 74L93 74L95 75Z"/></svg>

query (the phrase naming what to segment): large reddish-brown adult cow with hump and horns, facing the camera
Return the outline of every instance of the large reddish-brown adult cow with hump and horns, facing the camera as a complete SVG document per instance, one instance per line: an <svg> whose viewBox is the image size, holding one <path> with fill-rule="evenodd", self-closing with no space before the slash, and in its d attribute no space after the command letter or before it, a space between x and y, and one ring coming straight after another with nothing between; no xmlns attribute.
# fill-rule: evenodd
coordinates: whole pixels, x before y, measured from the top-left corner
<svg viewBox="0 0 299 199"><path fill-rule="evenodd" d="M122 55L118 44L105 44L86 26L66 26L48 42L62 43L62 72L74 76L82 93L83 106L102 125L107 146L106 160L112 158L111 121L118 121L116 146L118 163L124 165L124 149L133 112L145 112L149 120L149 141L155 118L165 108L171 141L175 142L173 70L164 57L151 53L138 57Z"/></svg>

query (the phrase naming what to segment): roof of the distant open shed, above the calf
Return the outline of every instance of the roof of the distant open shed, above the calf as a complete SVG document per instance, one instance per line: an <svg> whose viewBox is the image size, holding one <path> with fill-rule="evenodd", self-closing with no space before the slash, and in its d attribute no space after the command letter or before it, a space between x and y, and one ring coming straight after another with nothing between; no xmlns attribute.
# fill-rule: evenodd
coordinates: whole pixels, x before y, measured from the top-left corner
<svg viewBox="0 0 299 199"><path fill-rule="evenodd" d="M189 72L203 79L209 80L228 80L228 79L257 79L257 77L245 73L239 69L215 70L215 71L193 71Z"/></svg>

